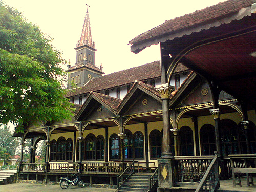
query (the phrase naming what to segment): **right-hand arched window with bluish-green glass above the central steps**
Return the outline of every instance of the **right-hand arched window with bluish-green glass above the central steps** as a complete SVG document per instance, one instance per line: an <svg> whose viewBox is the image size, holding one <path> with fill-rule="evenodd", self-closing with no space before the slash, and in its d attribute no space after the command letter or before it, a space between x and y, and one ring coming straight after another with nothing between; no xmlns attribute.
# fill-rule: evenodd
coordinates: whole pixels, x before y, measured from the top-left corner
<svg viewBox="0 0 256 192"><path fill-rule="evenodd" d="M138 131L133 135L134 143L134 159L143 159L144 158L144 136Z"/></svg>

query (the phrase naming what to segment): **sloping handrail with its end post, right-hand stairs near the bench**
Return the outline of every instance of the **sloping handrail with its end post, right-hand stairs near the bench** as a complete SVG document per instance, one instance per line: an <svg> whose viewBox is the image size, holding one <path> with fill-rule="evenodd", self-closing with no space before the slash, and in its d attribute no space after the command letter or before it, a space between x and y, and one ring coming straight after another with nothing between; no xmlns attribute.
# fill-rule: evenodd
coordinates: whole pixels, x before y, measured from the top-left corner
<svg viewBox="0 0 256 192"><path fill-rule="evenodd" d="M200 183L196 189L196 192L202 191L203 186L205 186L207 179L209 178L210 174L212 173L212 170L214 170L215 182L214 182L214 187L212 188L211 191L215 191L216 189L218 189L218 184L219 184L218 156L217 156L216 151L215 151L214 159L212 159L209 167L207 168L202 180L200 181ZM210 186L210 184L209 184L209 186Z"/></svg>

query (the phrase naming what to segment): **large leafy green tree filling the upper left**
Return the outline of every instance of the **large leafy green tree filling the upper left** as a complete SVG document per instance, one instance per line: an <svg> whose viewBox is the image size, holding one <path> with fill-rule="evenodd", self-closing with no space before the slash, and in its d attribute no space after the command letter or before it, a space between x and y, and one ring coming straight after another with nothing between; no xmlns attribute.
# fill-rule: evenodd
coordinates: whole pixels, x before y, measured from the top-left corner
<svg viewBox="0 0 256 192"><path fill-rule="evenodd" d="M66 61L51 41L0 0L0 123L13 122L17 132L73 115L61 88L66 72L60 64Z"/></svg>

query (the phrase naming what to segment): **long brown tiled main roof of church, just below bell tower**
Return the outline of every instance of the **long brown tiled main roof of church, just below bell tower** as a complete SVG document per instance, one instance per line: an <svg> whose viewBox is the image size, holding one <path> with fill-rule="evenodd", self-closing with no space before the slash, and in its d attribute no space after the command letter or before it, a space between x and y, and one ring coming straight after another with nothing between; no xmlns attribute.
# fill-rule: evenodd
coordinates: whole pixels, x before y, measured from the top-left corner
<svg viewBox="0 0 256 192"><path fill-rule="evenodd" d="M147 63L142 66L94 78L90 80L87 84L85 84L83 87L77 88L76 91L68 91L66 97L89 93L90 91L95 92L99 90L123 86L125 84L133 83L135 80L143 81L147 79L160 77L160 75L160 61L155 61Z"/></svg>

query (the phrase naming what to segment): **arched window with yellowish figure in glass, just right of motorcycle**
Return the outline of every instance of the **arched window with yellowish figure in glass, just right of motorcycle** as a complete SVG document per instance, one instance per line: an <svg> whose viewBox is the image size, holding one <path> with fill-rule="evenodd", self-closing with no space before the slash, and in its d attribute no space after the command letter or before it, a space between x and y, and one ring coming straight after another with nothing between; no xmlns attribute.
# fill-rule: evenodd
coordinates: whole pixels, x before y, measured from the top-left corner
<svg viewBox="0 0 256 192"><path fill-rule="evenodd" d="M96 158L96 146L95 146L95 136L89 134L86 137L86 160L92 160Z"/></svg>

